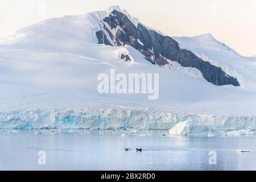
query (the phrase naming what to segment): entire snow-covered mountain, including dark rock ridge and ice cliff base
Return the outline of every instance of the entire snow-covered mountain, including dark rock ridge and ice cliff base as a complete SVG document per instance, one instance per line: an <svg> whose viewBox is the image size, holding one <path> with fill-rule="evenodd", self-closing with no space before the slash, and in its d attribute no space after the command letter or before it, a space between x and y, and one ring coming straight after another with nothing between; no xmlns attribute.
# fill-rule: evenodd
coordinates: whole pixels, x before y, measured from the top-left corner
<svg viewBox="0 0 256 182"><path fill-rule="evenodd" d="M256 129L256 61L210 34L172 38L119 6L0 40L0 127ZM159 73L159 99L99 94L100 73Z"/></svg>

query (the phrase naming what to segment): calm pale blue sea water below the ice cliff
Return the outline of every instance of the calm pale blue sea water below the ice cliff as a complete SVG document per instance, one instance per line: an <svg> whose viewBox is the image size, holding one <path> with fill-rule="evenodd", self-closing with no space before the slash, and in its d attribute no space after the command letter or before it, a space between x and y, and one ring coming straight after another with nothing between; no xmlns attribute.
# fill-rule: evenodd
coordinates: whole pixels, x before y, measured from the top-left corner
<svg viewBox="0 0 256 182"><path fill-rule="evenodd" d="M45 153L46 165L38 163L40 151ZM216 164L209 164L210 151L216 152ZM168 131L0 130L0 169L256 170L256 136L189 138L170 137Z"/></svg>

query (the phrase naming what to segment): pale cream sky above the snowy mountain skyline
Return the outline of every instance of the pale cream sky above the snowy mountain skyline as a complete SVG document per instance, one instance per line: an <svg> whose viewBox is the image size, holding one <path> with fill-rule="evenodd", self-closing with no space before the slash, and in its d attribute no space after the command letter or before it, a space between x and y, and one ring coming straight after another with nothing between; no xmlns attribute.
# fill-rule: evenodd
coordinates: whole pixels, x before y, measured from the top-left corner
<svg viewBox="0 0 256 182"><path fill-rule="evenodd" d="M169 36L210 33L243 56L256 55L255 0L0 0L0 36L48 18L119 5Z"/></svg>

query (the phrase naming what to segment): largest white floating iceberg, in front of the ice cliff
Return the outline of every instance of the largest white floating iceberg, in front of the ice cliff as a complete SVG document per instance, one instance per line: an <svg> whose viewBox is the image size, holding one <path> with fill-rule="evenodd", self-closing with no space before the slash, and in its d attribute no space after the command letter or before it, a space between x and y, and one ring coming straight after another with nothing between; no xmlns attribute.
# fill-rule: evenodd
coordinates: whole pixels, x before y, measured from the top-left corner
<svg viewBox="0 0 256 182"><path fill-rule="evenodd" d="M213 137L218 136L220 133L217 129L191 121L184 121L177 123L172 129L169 130L170 135L183 135L183 136L198 136L198 137Z"/></svg>

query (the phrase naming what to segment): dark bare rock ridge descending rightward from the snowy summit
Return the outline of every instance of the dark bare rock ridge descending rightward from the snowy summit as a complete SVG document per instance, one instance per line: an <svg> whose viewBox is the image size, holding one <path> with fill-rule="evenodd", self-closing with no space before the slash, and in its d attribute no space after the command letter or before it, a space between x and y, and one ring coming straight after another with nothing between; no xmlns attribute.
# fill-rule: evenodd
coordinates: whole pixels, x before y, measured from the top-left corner
<svg viewBox="0 0 256 182"><path fill-rule="evenodd" d="M117 28L115 36L106 28L104 23L108 23L112 29ZM141 52L152 64L163 66L168 64L168 59L176 61L183 67L199 69L205 80L215 85L240 86L236 78L226 75L221 68L200 59L187 49L181 49L179 44L170 36L163 36L155 31L148 30L142 24L138 24L138 27L135 27L125 14L117 10L114 10L108 17L104 18L103 24L105 32L109 34L116 44L112 45L109 42L103 30L96 33L99 44L109 46L124 46L127 44ZM124 57L125 55L122 56L122 59L126 58L126 61L128 60L127 57Z"/></svg>

